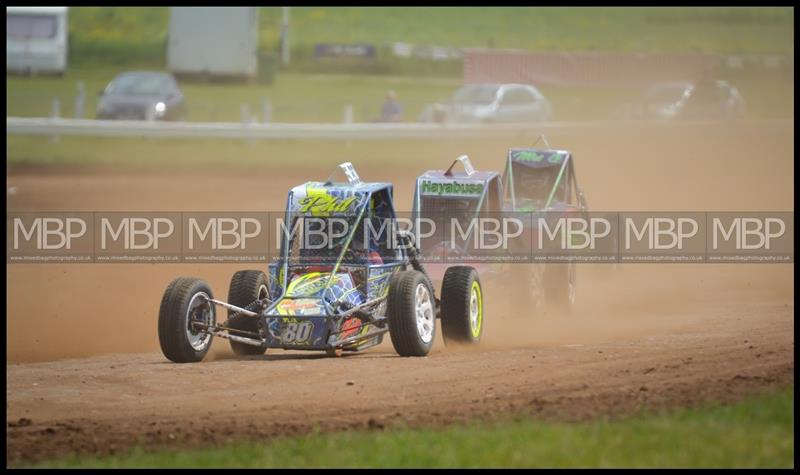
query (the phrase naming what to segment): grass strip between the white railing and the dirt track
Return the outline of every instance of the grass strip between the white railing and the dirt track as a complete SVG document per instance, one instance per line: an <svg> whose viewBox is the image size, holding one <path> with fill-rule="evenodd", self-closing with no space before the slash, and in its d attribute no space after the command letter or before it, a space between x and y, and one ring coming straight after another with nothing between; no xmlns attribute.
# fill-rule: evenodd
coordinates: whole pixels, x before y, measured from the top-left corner
<svg viewBox="0 0 800 475"><path fill-rule="evenodd" d="M528 135L512 140L528 143ZM8 136L6 162L10 166L122 166L123 170L209 168L266 171L276 168L307 169L310 176L351 161L400 164L413 169L442 167L460 153L499 166L508 141L475 140L194 140Z"/></svg>

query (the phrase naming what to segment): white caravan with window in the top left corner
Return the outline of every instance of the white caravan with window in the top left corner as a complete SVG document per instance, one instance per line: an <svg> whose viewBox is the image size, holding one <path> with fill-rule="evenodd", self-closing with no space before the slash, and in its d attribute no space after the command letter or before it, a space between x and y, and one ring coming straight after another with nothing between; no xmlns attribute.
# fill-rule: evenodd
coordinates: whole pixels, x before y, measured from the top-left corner
<svg viewBox="0 0 800 475"><path fill-rule="evenodd" d="M6 72L63 75L67 7L6 7Z"/></svg>

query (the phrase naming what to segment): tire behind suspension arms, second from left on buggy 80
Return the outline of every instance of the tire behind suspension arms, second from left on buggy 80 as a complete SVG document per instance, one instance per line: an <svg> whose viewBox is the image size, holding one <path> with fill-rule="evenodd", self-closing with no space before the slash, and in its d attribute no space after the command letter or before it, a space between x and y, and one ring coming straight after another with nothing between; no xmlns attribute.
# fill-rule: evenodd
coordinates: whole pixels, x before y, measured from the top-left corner
<svg viewBox="0 0 800 475"><path fill-rule="evenodd" d="M244 308L256 300L266 297L269 297L269 283L266 274L260 270L240 270L231 277L231 285L228 289L228 303L231 305ZM235 313L233 310L228 310L227 326L229 328L258 333L258 319L247 315L231 317ZM233 333L236 334L236 332ZM252 335L246 334L238 336L253 338ZM267 351L266 347L247 345L233 340L228 341L233 353L239 356L263 355Z"/></svg>

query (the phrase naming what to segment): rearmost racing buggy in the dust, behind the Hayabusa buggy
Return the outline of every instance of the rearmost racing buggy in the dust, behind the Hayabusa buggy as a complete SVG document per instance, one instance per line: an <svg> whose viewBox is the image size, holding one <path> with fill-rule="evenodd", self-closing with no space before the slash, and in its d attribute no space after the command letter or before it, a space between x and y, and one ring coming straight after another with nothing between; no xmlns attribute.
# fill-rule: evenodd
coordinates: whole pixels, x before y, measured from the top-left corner
<svg viewBox="0 0 800 475"><path fill-rule="evenodd" d="M539 139L543 139L540 136ZM538 140L534 143L534 146ZM572 154L550 148L512 148L503 172L503 207L511 212L533 213L533 217L588 213L586 196L578 187ZM542 232L538 219L527 221L531 237ZM529 270L530 295L535 304L544 301L568 312L575 303L576 267L574 262L536 263Z"/></svg>

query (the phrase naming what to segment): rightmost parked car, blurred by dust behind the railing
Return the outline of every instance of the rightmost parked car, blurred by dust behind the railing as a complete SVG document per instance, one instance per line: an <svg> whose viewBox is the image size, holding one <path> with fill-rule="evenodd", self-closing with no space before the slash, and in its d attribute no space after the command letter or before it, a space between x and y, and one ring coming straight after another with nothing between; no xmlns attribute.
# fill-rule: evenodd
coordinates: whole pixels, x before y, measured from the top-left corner
<svg viewBox="0 0 800 475"><path fill-rule="evenodd" d="M615 112L619 119L732 119L745 112L739 90L727 81L669 82L647 88Z"/></svg>

